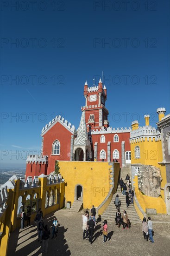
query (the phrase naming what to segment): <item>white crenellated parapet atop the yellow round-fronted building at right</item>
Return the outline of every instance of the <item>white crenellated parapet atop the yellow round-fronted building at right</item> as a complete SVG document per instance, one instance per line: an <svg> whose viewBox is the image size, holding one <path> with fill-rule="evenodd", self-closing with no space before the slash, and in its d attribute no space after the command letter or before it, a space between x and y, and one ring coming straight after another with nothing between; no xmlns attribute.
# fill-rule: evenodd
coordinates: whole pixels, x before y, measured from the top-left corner
<svg viewBox="0 0 170 256"><path fill-rule="evenodd" d="M161 134L156 128L150 125L139 127L136 130L131 130L130 143L142 142L145 141L145 139L147 141L149 141L150 139L151 141L153 141L153 139L155 139L155 141L160 141Z"/></svg>

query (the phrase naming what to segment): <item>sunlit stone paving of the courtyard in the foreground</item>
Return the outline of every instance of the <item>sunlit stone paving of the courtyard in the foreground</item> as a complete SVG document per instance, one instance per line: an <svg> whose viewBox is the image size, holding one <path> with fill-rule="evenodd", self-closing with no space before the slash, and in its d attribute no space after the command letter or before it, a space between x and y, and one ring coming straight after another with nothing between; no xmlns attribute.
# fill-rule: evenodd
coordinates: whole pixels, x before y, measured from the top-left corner
<svg viewBox="0 0 170 256"><path fill-rule="evenodd" d="M41 252L36 223L10 235L7 256L170 256L170 224L154 223L154 243L143 237L142 223L132 224L131 229L118 229L108 223L110 241L102 243L102 222L95 227L93 243L82 239L82 212L71 213L61 209L44 217L44 223L52 226L53 217L59 221L58 236L49 239L48 253ZM50 228L51 231L51 228ZM50 236L51 237L51 236Z"/></svg>

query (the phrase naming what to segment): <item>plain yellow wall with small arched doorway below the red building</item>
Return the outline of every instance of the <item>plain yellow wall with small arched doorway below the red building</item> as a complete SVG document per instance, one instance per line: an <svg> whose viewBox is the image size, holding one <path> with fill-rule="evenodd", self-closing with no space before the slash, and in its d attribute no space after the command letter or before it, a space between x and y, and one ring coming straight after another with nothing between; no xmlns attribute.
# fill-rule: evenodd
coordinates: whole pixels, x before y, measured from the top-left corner
<svg viewBox="0 0 170 256"><path fill-rule="evenodd" d="M76 185L83 187L83 208L98 207L104 201L112 185L108 162L59 162L60 173L65 180L65 198L73 204Z"/></svg>

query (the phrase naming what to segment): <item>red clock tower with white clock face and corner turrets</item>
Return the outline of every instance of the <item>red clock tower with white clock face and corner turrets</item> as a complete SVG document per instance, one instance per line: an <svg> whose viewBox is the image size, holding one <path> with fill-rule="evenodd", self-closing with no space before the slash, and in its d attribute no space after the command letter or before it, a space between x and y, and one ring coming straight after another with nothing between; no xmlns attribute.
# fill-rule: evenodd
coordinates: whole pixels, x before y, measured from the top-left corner
<svg viewBox="0 0 170 256"><path fill-rule="evenodd" d="M85 82L84 97L86 99L86 105L82 107L82 110L86 114L88 131L94 128L109 127L107 120L108 110L105 107L107 89L106 86L103 88L101 79L98 86L88 87L87 81Z"/></svg>

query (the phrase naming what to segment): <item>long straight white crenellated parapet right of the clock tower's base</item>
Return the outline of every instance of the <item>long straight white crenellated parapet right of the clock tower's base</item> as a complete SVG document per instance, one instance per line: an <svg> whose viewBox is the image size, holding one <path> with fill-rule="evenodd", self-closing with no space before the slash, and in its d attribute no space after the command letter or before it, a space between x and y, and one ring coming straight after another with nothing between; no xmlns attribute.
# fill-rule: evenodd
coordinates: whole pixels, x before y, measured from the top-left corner
<svg viewBox="0 0 170 256"><path fill-rule="evenodd" d="M89 134L115 134L115 133L129 133L132 129L130 127L118 127L118 128L112 128L112 127L105 127L105 128L96 128L90 130Z"/></svg>

